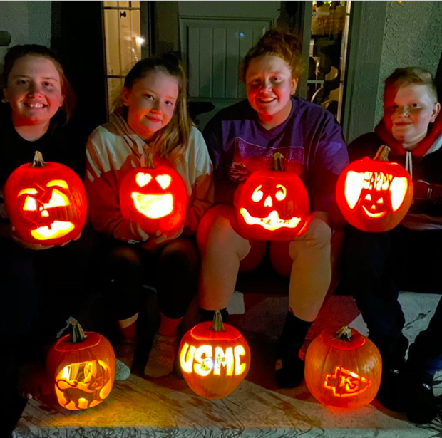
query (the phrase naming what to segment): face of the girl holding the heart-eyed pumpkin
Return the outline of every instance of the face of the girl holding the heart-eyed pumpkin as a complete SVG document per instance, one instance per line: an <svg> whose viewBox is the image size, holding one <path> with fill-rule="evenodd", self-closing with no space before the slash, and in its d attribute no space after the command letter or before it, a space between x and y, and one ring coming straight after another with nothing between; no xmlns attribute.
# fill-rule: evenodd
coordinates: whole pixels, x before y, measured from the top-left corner
<svg viewBox="0 0 442 438"><path fill-rule="evenodd" d="M179 90L178 78L158 69L136 80L132 88L123 88L128 125L143 140L150 140L173 118Z"/></svg>

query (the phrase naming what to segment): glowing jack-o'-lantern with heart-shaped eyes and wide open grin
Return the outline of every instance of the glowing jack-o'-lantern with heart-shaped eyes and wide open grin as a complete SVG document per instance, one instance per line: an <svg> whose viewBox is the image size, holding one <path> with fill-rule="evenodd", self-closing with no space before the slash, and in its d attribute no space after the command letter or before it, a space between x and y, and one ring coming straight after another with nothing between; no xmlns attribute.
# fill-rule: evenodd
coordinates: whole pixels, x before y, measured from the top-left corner
<svg viewBox="0 0 442 438"><path fill-rule="evenodd" d="M125 174L120 184L121 213L138 222L147 234L167 234L185 220L185 184L172 167L155 167L152 154L147 161L147 167L135 167Z"/></svg>

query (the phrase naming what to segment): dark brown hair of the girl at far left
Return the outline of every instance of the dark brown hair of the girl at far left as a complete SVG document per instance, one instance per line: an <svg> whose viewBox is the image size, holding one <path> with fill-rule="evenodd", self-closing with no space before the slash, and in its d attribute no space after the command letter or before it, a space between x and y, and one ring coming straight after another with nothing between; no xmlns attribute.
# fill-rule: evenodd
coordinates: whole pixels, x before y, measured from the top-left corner
<svg viewBox="0 0 442 438"><path fill-rule="evenodd" d="M61 95L63 96L63 106L61 107L66 114L66 122L71 120L73 110L76 104L76 97L73 93L71 84L64 73L61 62L50 48L41 46L40 44L23 44L22 46L13 46L9 49L4 57L4 70L2 74L3 87L8 86L9 73L11 73L14 63L25 56L41 56L53 63L60 75Z"/></svg>

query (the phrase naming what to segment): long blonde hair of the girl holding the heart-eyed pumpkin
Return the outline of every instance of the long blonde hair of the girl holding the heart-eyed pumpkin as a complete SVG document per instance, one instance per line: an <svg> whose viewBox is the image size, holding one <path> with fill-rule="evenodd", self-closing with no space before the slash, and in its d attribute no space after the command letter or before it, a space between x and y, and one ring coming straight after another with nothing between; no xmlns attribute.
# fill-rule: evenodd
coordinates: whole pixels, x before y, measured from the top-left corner
<svg viewBox="0 0 442 438"><path fill-rule="evenodd" d="M137 80L144 78L150 71L163 71L178 78L178 99L173 117L168 125L155 133L152 144L158 158L169 158L178 150L186 150L189 145L192 120L187 113L187 79L183 67L175 56L145 58L130 69L124 80L124 88L130 90ZM123 112L127 119L127 108Z"/></svg>

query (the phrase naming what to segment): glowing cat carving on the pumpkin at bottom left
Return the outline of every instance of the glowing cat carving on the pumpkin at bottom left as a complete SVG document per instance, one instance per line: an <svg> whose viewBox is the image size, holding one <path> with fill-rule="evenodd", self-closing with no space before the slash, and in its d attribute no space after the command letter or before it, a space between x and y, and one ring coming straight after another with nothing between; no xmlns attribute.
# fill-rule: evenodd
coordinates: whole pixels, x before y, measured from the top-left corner
<svg viewBox="0 0 442 438"><path fill-rule="evenodd" d="M94 407L111 389L111 369L102 360L66 365L56 376L58 402L69 410Z"/></svg>

